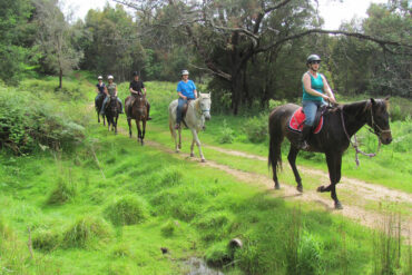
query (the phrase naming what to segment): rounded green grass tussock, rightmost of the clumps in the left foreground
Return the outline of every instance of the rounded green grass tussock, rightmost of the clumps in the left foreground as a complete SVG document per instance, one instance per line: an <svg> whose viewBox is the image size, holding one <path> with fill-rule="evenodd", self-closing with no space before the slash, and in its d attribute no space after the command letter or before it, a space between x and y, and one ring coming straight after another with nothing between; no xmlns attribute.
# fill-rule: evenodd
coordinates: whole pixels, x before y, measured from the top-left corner
<svg viewBox="0 0 412 275"><path fill-rule="evenodd" d="M105 215L114 225L134 225L148 217L146 202L138 196L124 196L109 205Z"/></svg>

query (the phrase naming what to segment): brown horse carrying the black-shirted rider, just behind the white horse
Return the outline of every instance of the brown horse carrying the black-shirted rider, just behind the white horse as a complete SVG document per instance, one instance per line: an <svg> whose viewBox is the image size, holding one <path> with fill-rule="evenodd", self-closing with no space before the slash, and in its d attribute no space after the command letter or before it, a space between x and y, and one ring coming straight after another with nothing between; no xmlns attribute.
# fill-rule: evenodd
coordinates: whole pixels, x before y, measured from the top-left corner
<svg viewBox="0 0 412 275"><path fill-rule="evenodd" d="M140 143L141 146L145 144L145 134L146 134L146 120L147 120L147 106L146 106L146 96L143 94L128 96L125 99L125 109L127 115L127 124L129 125L129 137L131 138L131 125L130 120L135 119L136 128L138 131L137 143ZM140 128L140 121L143 129Z"/></svg>

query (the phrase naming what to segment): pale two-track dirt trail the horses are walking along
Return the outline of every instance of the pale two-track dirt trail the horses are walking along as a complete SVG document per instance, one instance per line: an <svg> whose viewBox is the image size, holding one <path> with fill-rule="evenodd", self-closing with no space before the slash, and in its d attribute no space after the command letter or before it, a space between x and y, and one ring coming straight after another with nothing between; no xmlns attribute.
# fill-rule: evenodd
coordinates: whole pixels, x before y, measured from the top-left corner
<svg viewBox="0 0 412 275"><path fill-rule="evenodd" d="M121 127L118 127L118 131L121 135L128 136L128 131ZM134 136L134 139L136 139L135 136ZM361 206L353 205L350 202L343 202L344 208L342 210L336 210L333 207L333 200L331 199L328 193L320 194L314 190L305 189L304 193L302 194L302 193L298 193L294 186L290 186L285 184L282 185L281 190L274 190L273 180L268 176L249 173L249 171L242 171L238 169L230 168L226 165L217 164L213 160L200 163L198 158L190 157L189 154L185 154L185 153L176 154L173 149L171 143L170 143L170 146L165 146L163 144L159 144L153 140L145 140L145 145L154 147L167 154L171 154L180 159L198 163L200 166L207 166L207 167L213 167L215 169L223 170L234 176L239 181L261 187L263 190L266 190L271 196L282 197L284 199L295 199L295 200L302 200L302 202L316 203L317 205L320 205L322 208L324 208L326 212L331 214L343 215L370 228L382 228L383 226L382 222L385 220L384 214L379 213L376 210L365 209ZM246 153L236 151L236 150L228 150L228 149L224 149L224 148L216 147L216 146L204 145L204 147L223 153L223 154L232 155L232 156L239 156L239 157L256 159L259 161L267 161L267 159L262 156L256 156L256 155L246 154ZM305 175L310 174L314 177L320 178L321 184L324 184L324 185L328 184L328 176L326 173L322 170L304 168L304 167L300 167L300 170L304 173ZM405 204L412 203L412 196L406 193L402 193L399 190L392 190L383 186L376 186L376 185L367 184L362 180L346 178L346 177L343 177L341 181L344 181L345 184L344 186L337 185L336 186L337 191L343 191L346 189L351 194L361 193L363 198L367 198L374 202L386 200L386 202L405 203ZM411 233L412 218L409 216L403 216L401 224L402 224L401 234L406 238L411 238L412 237L412 233Z"/></svg>

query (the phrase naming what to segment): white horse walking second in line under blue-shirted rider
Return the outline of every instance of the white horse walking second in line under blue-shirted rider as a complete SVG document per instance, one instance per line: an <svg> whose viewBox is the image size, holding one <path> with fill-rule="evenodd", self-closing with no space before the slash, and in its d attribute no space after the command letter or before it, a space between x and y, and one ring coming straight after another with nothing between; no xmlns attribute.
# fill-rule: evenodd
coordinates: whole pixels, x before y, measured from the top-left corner
<svg viewBox="0 0 412 275"><path fill-rule="evenodd" d="M192 130L193 140L190 146L190 157L194 157L195 154L193 153L193 149L195 147L195 143L197 145L197 148L199 148L199 154L202 158L202 163L205 163L205 156L202 153L200 148L200 140L197 137L197 134L199 130L205 128L205 120L210 119L210 99L212 94L200 94L199 97L195 100L190 100L187 106L187 112L185 118L182 122L186 124L186 126ZM176 108L177 108L177 99L173 100L169 105L169 128L173 138L175 139L175 146L176 146L176 153L179 153L182 149L182 124L178 129L179 131L179 140L176 139Z"/></svg>

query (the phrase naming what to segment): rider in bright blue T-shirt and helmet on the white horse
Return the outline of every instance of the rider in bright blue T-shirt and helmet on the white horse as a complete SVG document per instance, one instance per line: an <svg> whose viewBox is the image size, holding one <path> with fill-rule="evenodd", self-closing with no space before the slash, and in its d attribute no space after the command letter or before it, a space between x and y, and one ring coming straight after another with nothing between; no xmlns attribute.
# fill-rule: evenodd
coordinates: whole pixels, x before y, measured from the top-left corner
<svg viewBox="0 0 412 275"><path fill-rule="evenodd" d="M182 80L177 84L177 95L179 96L179 98L178 98L178 104L177 104L177 116L176 116L175 129L178 129L180 127L182 111L183 111L185 104L187 104L188 100L193 100L197 98L196 85L194 81L189 80L188 70L182 71Z"/></svg>

